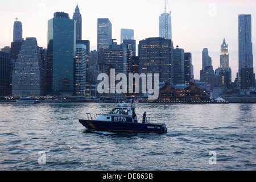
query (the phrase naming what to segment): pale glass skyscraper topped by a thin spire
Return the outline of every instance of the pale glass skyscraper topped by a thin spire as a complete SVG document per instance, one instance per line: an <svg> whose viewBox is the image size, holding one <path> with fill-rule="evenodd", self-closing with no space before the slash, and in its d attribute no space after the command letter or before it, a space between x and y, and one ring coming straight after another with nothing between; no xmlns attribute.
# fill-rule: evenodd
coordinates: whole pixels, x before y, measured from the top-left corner
<svg viewBox="0 0 256 182"><path fill-rule="evenodd" d="M159 37L172 39L171 11L166 13L166 1L164 1L164 13L159 16Z"/></svg>

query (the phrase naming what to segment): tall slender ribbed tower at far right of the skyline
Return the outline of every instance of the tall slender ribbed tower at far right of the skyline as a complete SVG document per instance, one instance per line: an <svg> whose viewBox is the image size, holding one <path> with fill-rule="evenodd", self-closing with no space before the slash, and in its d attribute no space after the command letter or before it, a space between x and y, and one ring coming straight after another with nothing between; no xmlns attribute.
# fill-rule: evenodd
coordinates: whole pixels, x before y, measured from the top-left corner
<svg viewBox="0 0 256 182"><path fill-rule="evenodd" d="M253 67L253 43L251 42L251 15L238 15L239 71Z"/></svg>

